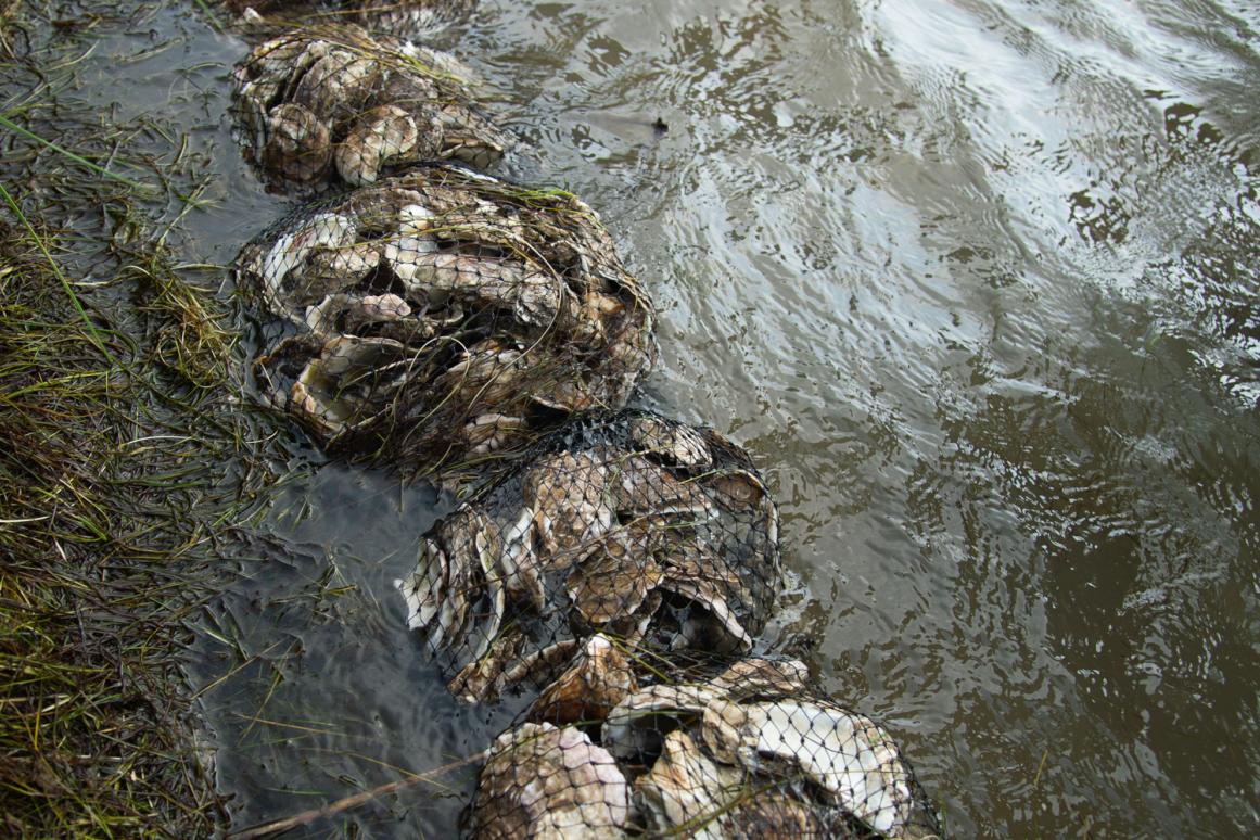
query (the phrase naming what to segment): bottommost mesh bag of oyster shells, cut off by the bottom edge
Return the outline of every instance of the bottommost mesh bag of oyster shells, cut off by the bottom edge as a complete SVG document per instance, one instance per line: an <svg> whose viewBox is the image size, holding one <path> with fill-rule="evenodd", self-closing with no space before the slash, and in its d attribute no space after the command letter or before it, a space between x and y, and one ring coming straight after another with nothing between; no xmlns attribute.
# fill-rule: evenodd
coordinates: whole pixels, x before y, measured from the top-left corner
<svg viewBox="0 0 1260 840"><path fill-rule="evenodd" d="M892 737L794 660L626 693L602 720L525 720L489 751L474 837L941 835Z"/></svg>

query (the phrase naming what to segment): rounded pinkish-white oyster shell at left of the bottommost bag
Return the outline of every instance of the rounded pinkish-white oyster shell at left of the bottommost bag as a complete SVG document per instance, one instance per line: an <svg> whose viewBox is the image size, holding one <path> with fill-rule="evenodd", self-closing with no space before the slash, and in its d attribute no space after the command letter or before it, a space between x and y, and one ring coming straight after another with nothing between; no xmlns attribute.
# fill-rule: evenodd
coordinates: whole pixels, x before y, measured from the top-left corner
<svg viewBox="0 0 1260 840"><path fill-rule="evenodd" d="M622 837L630 786L580 729L524 723L495 739L478 781L478 837Z"/></svg>

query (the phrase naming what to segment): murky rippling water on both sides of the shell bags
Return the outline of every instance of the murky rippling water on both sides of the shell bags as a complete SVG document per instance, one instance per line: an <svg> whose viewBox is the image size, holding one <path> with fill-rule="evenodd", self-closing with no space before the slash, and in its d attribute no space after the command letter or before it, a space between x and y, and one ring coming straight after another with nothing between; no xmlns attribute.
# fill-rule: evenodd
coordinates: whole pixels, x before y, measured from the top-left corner
<svg viewBox="0 0 1260 840"><path fill-rule="evenodd" d="M229 140L246 47L190 14L107 44L137 58L101 96L200 126L186 249L228 262L284 205ZM644 402L770 475L786 630L953 835L1257 834L1260 6L484 0L445 45L532 146L513 174L614 229L662 309ZM292 471L194 669L238 824L514 712L402 630L449 501ZM344 822L445 836L471 778Z"/></svg>

